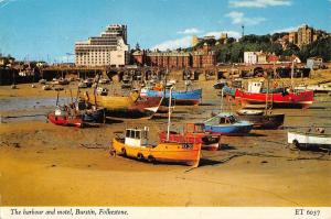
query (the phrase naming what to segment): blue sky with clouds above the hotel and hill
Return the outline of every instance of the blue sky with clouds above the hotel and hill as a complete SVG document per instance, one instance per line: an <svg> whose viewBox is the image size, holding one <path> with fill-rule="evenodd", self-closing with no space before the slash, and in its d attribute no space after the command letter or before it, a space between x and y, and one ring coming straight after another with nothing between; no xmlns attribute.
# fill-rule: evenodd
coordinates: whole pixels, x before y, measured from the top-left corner
<svg viewBox="0 0 331 219"><path fill-rule="evenodd" d="M331 32L331 0L0 0L0 53L66 62L76 41L128 25L131 47L190 46L192 34L239 37L297 29ZM72 61L73 57L70 57Z"/></svg>

